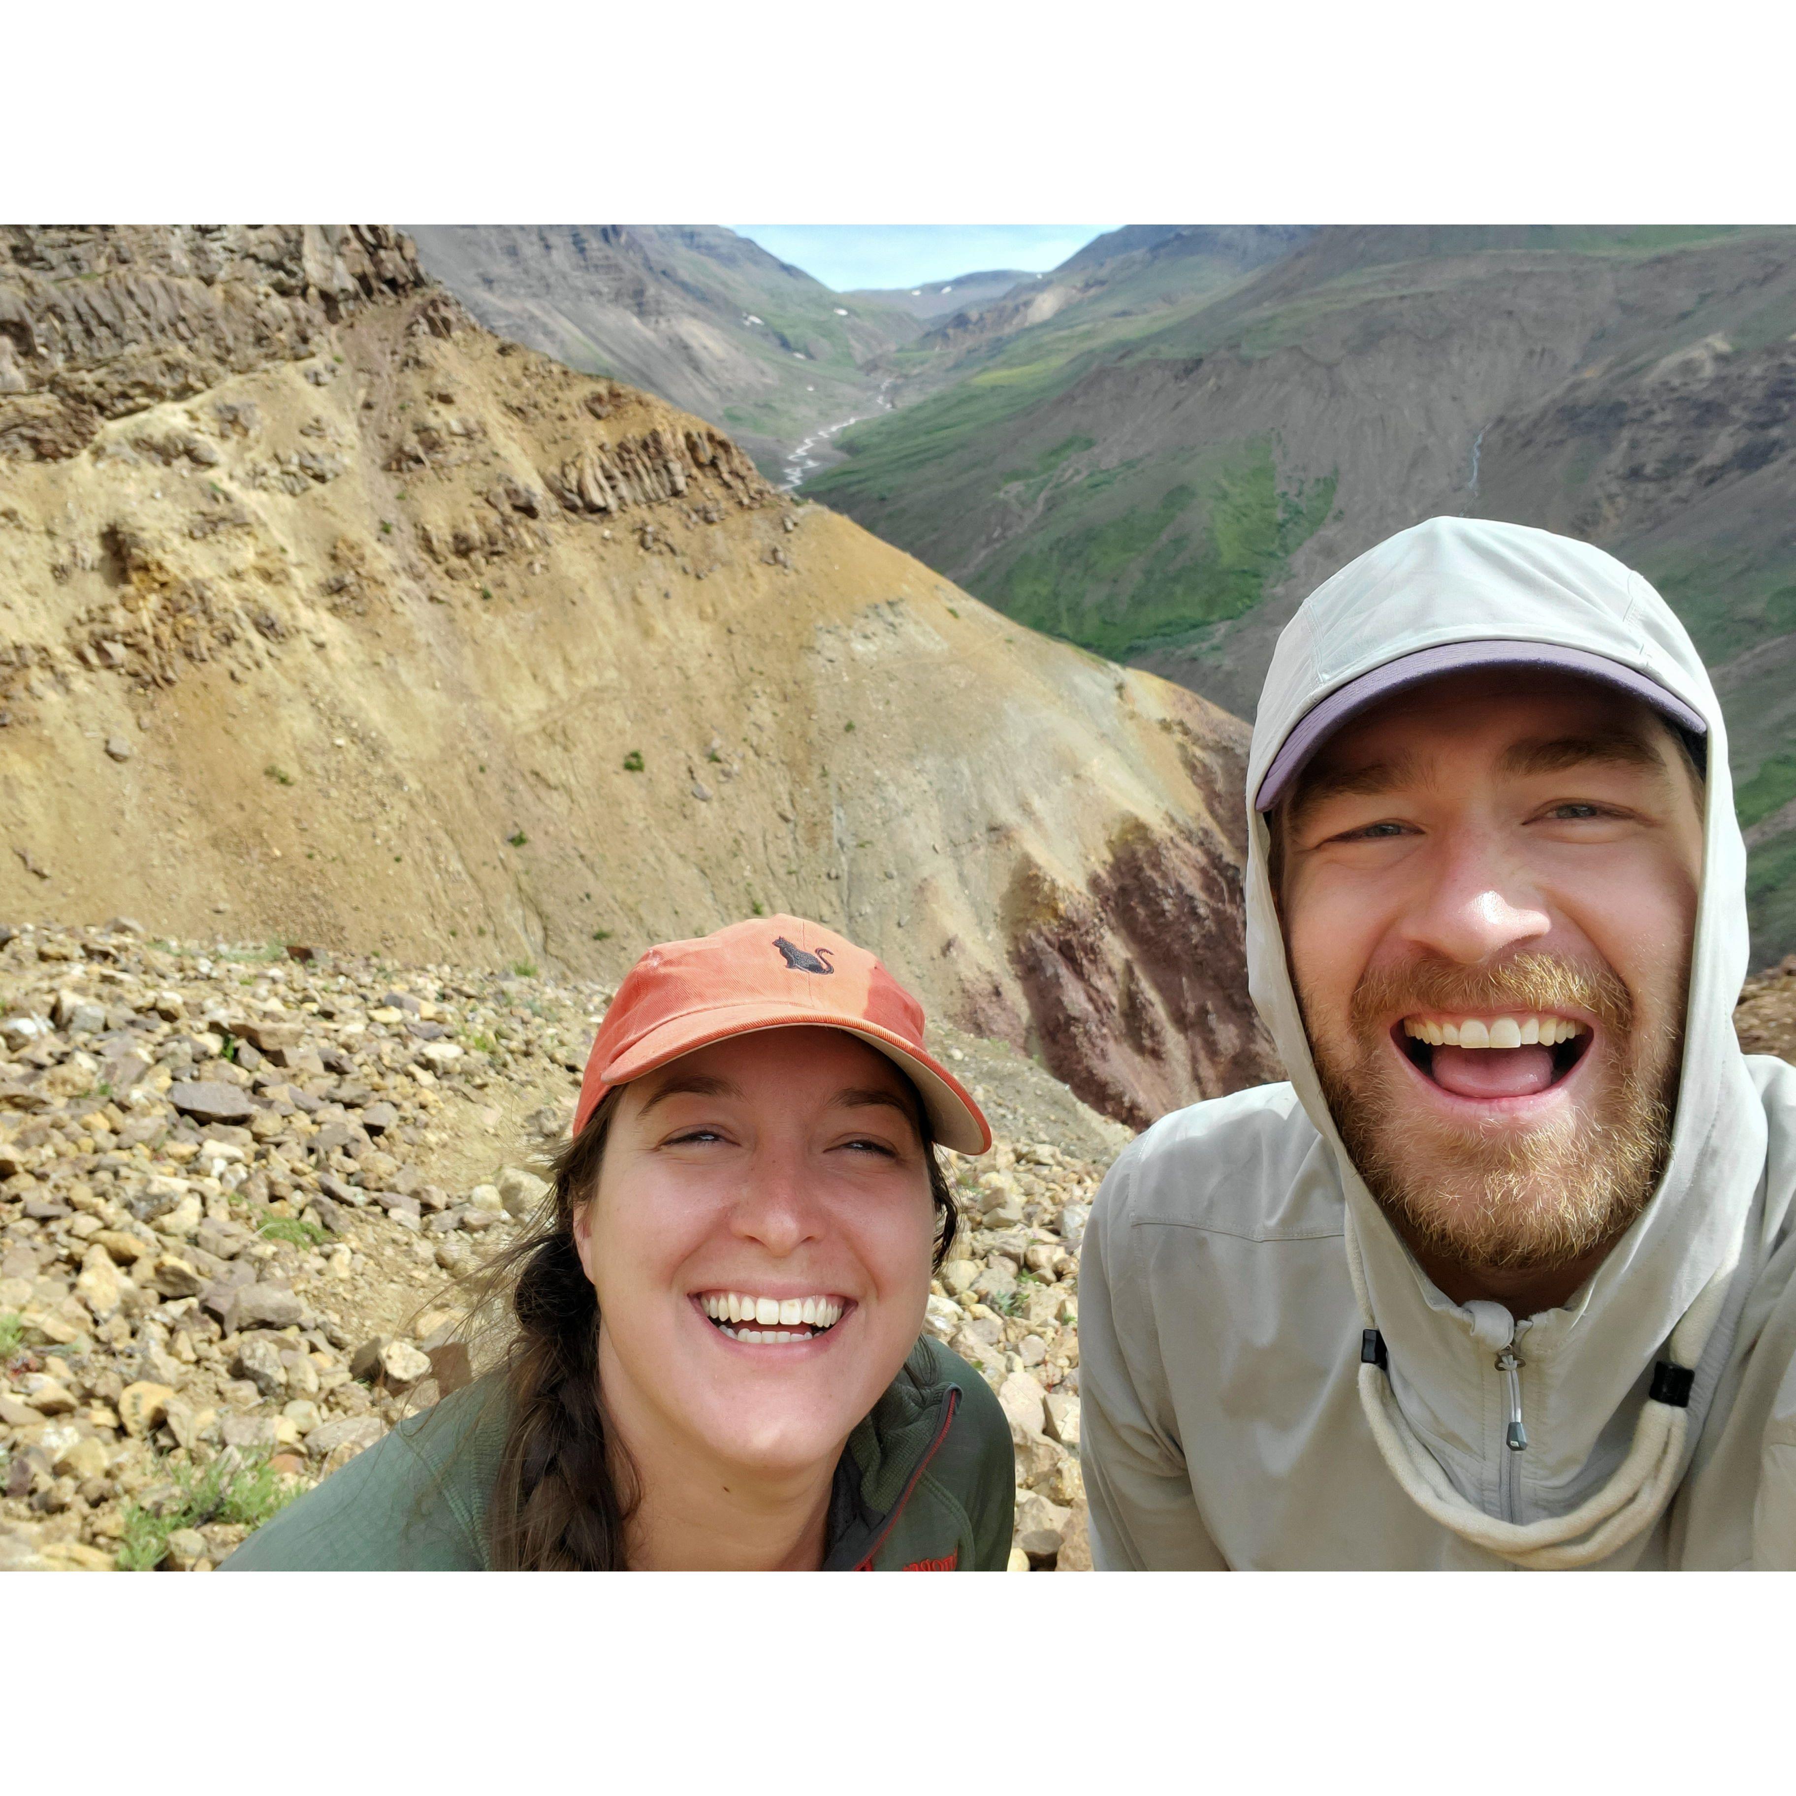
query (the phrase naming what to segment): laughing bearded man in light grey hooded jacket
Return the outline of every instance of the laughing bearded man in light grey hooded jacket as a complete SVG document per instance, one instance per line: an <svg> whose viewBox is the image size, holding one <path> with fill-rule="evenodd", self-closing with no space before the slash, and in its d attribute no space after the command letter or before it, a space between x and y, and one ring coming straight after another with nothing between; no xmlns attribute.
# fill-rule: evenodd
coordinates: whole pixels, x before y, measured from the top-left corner
<svg viewBox="0 0 1796 1796"><path fill-rule="evenodd" d="M1096 1563L1796 1566L1796 1070L1733 1034L1746 850L1665 602L1392 537L1279 638L1248 821L1290 1083L1105 1180Z"/></svg>

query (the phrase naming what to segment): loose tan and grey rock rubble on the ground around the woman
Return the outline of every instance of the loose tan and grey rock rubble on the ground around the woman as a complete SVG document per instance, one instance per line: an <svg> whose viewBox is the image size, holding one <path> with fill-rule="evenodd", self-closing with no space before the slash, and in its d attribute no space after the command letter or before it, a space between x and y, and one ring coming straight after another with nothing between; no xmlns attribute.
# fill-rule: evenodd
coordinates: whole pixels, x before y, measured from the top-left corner
<svg viewBox="0 0 1796 1796"><path fill-rule="evenodd" d="M539 1200L593 982L0 927L0 1570L203 1572L483 1372L456 1284ZM927 1327L999 1392L1013 1570L1088 1570L1076 1250L1128 1131L936 1031L991 1115L946 1155Z"/></svg>

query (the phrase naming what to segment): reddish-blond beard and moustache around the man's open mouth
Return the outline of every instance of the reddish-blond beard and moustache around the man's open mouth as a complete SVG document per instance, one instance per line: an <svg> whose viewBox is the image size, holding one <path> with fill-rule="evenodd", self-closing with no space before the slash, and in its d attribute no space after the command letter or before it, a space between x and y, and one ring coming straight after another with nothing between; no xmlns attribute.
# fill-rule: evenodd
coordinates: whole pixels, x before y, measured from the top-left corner
<svg viewBox="0 0 1796 1796"><path fill-rule="evenodd" d="M1683 990L1679 979L1668 1011L1679 1020ZM1394 1013L1564 1009L1598 1020L1586 1054L1602 1054L1580 1069L1588 1096L1568 1115L1527 1133L1455 1128L1406 1101L1408 1076L1390 1061ZM1482 972L1422 961L1360 982L1351 1045L1320 1040L1307 1008L1306 1027L1347 1153L1413 1246L1475 1270L1545 1272L1616 1239L1647 1207L1670 1148L1681 1029L1638 1036L1633 999L1607 968L1545 954Z"/></svg>

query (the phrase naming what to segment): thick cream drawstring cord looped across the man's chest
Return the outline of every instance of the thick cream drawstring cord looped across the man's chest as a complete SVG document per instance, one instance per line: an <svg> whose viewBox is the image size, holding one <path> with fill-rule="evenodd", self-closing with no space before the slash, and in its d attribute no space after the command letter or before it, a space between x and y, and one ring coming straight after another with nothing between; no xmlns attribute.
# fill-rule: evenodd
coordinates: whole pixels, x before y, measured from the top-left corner
<svg viewBox="0 0 1796 1796"><path fill-rule="evenodd" d="M1372 1322L1372 1300L1365 1286L1365 1266L1351 1209L1345 1216L1345 1236L1347 1272L1365 1322L1365 1340L1370 1342L1378 1329ZM1652 1388L1634 1422L1634 1442L1627 1458L1595 1496L1579 1503L1570 1514L1528 1523L1498 1521L1467 1503L1397 1406L1395 1392L1390 1388L1388 1354L1379 1338L1376 1354L1361 1351L1360 1406L1372 1424L1372 1439L1390 1475L1403 1485L1410 1501L1440 1527L1523 1570L1566 1572L1606 1559L1651 1527L1670 1500L1683 1467L1695 1367L1721 1320L1739 1257L1740 1248L1735 1245L1728 1263L1703 1286L1695 1302L1683 1313L1683 1320L1672 1329L1670 1360L1661 1360L1654 1367ZM1509 1446L1523 1448L1527 1433L1521 1430L1521 1394L1512 1349L1509 1358L1512 1361ZM1577 1539L1580 1534L1584 1539Z"/></svg>

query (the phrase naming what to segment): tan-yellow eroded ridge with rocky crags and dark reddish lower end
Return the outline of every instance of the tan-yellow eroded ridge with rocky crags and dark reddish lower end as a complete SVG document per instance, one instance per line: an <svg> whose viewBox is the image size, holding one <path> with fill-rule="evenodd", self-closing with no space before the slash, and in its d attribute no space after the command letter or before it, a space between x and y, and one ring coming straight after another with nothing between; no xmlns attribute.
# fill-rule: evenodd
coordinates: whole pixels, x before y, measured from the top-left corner
<svg viewBox="0 0 1796 1796"><path fill-rule="evenodd" d="M1234 718L392 232L0 244L0 918L609 981L787 909L1128 1122L1268 1074Z"/></svg>

